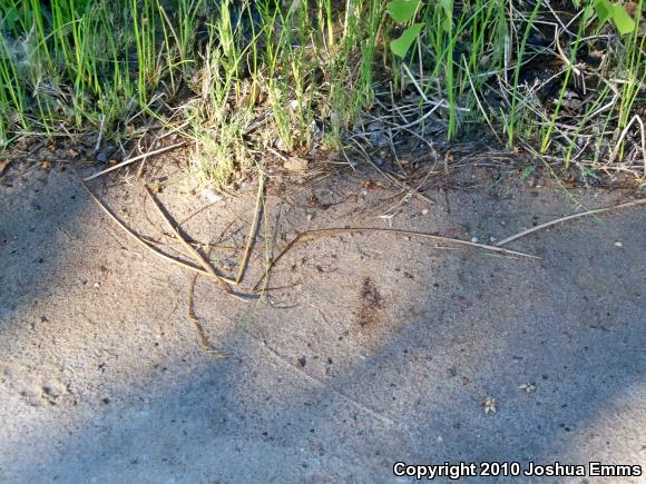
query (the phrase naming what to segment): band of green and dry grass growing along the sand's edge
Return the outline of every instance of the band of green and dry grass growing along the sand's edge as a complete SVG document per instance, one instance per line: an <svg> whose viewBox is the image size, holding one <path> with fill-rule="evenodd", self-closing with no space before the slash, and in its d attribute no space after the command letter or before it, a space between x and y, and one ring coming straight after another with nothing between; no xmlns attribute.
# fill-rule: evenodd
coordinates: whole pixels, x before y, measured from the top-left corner
<svg viewBox="0 0 646 484"><path fill-rule="evenodd" d="M566 169L646 176L644 0L624 34L590 1L399 1L0 0L0 148L124 144L154 120L190 142L199 185L224 188L268 148L365 141L352 134L390 110L395 137L488 126Z"/></svg>

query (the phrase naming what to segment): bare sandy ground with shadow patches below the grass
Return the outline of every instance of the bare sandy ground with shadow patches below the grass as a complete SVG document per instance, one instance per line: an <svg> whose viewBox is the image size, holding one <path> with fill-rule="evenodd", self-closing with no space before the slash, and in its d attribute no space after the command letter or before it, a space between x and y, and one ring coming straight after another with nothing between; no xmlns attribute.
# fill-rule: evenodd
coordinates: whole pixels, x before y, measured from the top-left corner
<svg viewBox="0 0 646 484"><path fill-rule="evenodd" d="M391 224L488 243L577 211L562 191L515 178L487 189L474 172L474 188L429 191L432 206L413 200L389 223L374 215L398 199L362 192L371 177L271 191L276 235L261 230L243 287L265 241L275 254L298 230ZM139 233L164 228L140 189L117 177L94 187ZM255 203L243 191L186 231L239 246ZM177 220L208 205L177 186L160 198ZM510 245L540 260L388 234L313 240L281 260L271 304L198 280L195 313L228 354L215 358L186 318L186 271L134 245L69 170L12 168L0 188L0 481L400 483L398 461L646 466L645 227L642 206ZM234 256L221 264L233 270Z"/></svg>

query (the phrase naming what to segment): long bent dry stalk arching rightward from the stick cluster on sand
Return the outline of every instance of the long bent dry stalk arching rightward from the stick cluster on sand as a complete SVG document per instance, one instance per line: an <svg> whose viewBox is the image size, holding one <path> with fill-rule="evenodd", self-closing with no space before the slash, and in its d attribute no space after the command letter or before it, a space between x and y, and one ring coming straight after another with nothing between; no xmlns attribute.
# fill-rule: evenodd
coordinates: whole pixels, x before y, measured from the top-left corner
<svg viewBox="0 0 646 484"><path fill-rule="evenodd" d="M440 235L432 235L432 234L425 234L425 233L420 233L420 231L401 230L401 229L397 229L397 228L380 228L380 227L376 227L376 228L375 227L366 227L366 228L361 228L361 227L323 228L323 229L319 229L319 230L302 231L296 237L294 237L285 246L285 248L283 250L281 250L281 253L276 256L276 258L274 258L274 260L272 260L272 263L270 264L270 266L265 270L265 274L261 277L261 279L254 286L254 292L257 292L258 290L258 287L261 286L261 284L265 280L265 278L268 276L270 271L274 268L274 266L278 263L278 260L281 260L283 258L283 256L287 251L290 251L290 249L292 249L292 247L294 247L296 244L298 244L301 241L305 241L307 239L319 238L319 237L331 237L331 236L335 236L335 235L339 235L339 234L375 233L375 231L378 231L378 233L384 233L384 234L403 235L403 236L409 236L409 237L419 237L419 238L424 238L424 239L430 239L430 240L443 241L443 243L447 243L447 244L456 244L456 245L461 245L461 246L467 246L467 247L476 247L476 248L479 248L479 249L490 250L490 251L495 251L495 253L499 253L499 254L507 254L507 255L513 255L513 256L519 256L519 257L527 257L527 258L530 258L530 259L540 259L540 257L534 256L531 254L525 254L525 253L520 253L520 251L517 251L517 250L508 250L508 249L503 249L503 248L500 248L500 247L495 247L495 246L489 246L489 245L484 245L484 244L472 243L472 241L469 241L469 240L460 240L460 239L457 239L457 238L442 237Z"/></svg>

